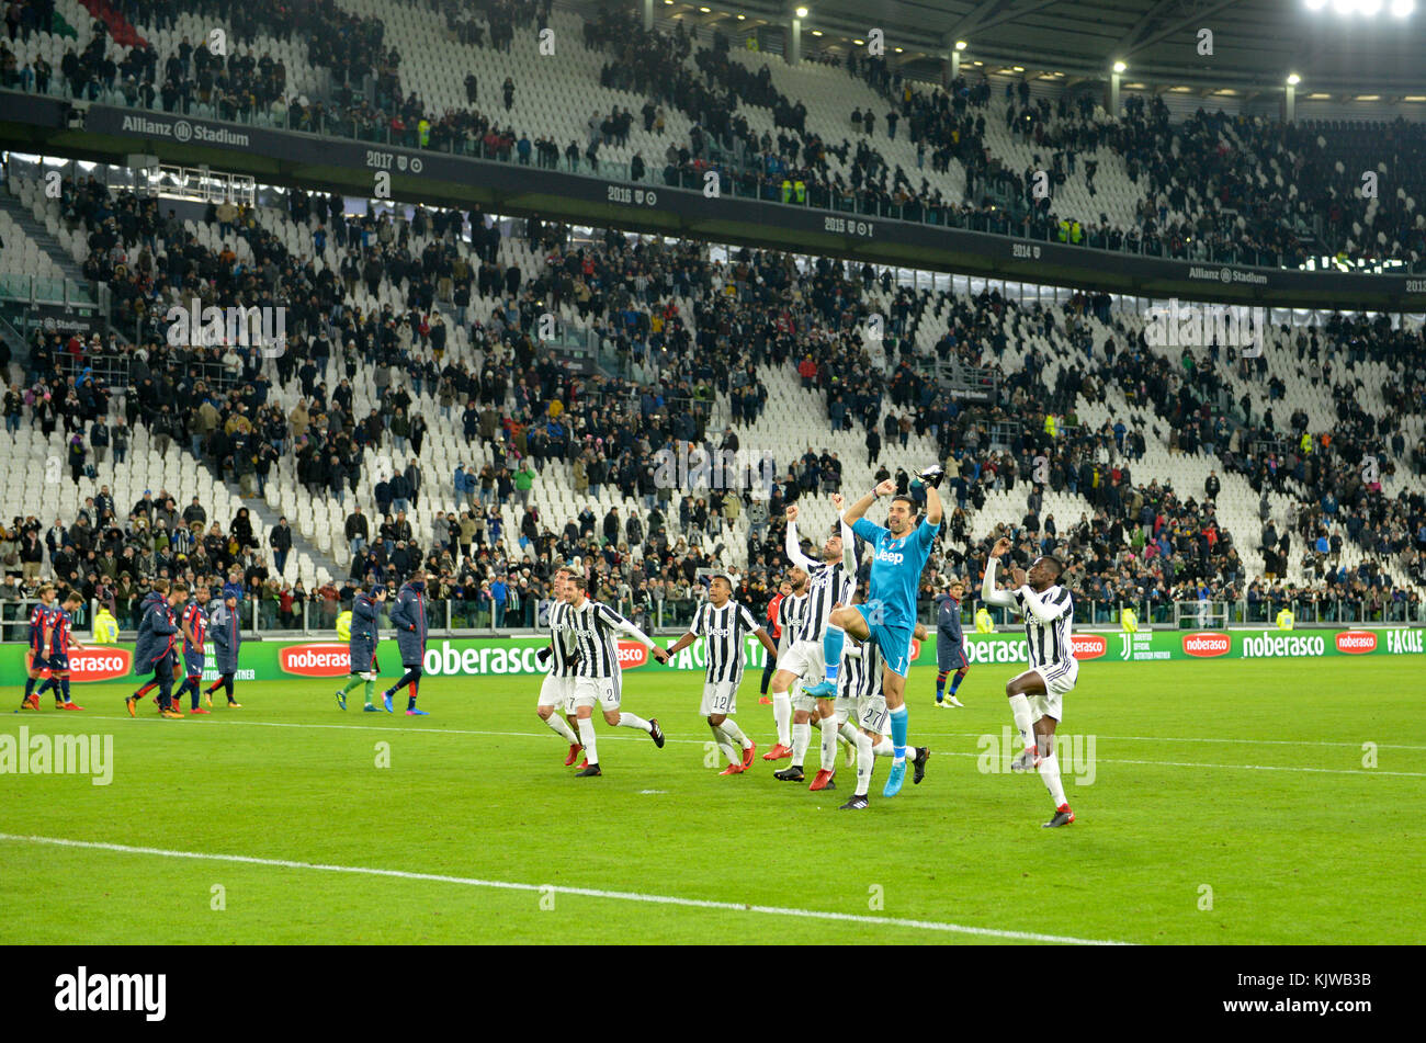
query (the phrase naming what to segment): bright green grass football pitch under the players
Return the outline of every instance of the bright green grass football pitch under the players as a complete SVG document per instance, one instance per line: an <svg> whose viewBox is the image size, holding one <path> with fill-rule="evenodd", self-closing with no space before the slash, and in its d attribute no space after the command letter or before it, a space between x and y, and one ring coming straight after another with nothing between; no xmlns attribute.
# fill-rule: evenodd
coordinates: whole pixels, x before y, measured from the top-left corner
<svg viewBox="0 0 1426 1043"><path fill-rule="evenodd" d="M927 778L878 799L878 758L867 812L837 809L844 767L834 792L771 778L756 675L737 720L759 761L727 778L704 767L692 673L626 677L625 708L669 744L600 722L597 779L562 767L539 678L428 680L426 718L362 714L359 690L344 714L334 683L285 681L240 684L238 711L130 720L133 685L86 685L87 712L46 695L0 717L0 734L114 737L111 785L0 775L0 943L1419 942L1420 668L1087 663L1061 731L1081 754L1094 738L1094 778L1067 772L1064 829L1040 828L1038 778L978 769L1012 664L975 667L958 711L913 671Z"/></svg>

